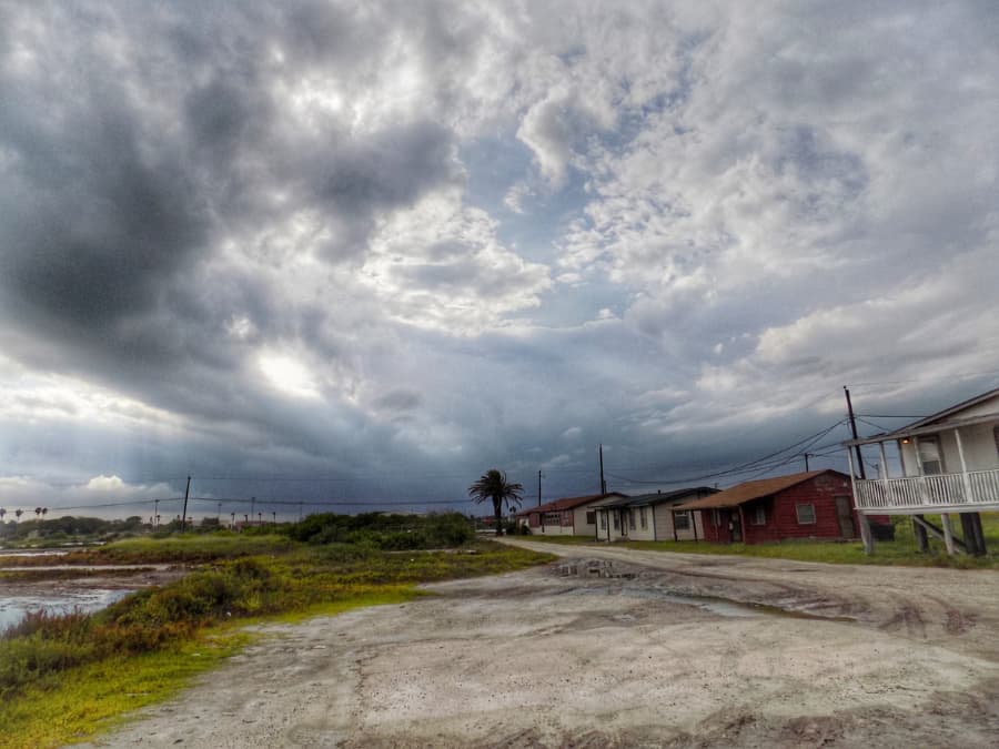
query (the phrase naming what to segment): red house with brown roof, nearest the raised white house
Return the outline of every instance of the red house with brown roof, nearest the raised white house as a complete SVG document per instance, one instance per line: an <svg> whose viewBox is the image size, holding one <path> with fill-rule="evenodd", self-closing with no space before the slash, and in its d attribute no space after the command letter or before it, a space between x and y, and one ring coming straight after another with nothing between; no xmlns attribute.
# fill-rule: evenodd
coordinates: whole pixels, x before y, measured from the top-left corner
<svg viewBox="0 0 999 749"><path fill-rule="evenodd" d="M677 509L699 509L705 540L723 544L860 535L850 477L831 469L746 482Z"/></svg>

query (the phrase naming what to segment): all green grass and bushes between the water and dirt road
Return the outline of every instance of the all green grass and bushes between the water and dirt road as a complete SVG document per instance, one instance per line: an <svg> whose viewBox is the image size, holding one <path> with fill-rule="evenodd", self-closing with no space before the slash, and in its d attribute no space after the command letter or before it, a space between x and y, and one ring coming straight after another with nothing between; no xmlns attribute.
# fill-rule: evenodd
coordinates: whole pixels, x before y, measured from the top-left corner
<svg viewBox="0 0 999 749"><path fill-rule="evenodd" d="M460 515L315 516L281 536L129 539L68 556L193 569L92 615L32 614L0 636L0 746L56 746L107 729L236 651L246 641L238 624L401 603L421 595L418 583L551 559L476 541Z"/></svg>

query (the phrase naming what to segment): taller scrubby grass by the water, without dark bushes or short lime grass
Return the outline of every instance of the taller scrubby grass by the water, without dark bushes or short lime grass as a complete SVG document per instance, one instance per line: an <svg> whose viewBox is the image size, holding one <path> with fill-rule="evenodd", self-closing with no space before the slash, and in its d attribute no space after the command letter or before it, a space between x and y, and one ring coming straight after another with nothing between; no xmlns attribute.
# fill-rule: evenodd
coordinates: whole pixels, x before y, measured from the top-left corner
<svg viewBox="0 0 999 749"><path fill-rule="evenodd" d="M417 583L504 573L552 558L490 541L450 550L397 551L376 548L370 539L306 545L261 536L250 548L266 553L243 556L245 549L233 539L204 536L122 541L98 551L102 559L205 561L175 583L134 593L101 611L36 613L0 635L0 747L49 746L90 730L85 716L58 730L47 729L46 719L67 699L68 685L79 691L93 675L105 672L108 664L141 670L163 662L158 654L190 649L220 626L408 600L418 595ZM189 671L181 669L176 678L186 678ZM104 705L101 715L141 704L113 695L107 699L124 707ZM20 736L49 739L8 743Z"/></svg>

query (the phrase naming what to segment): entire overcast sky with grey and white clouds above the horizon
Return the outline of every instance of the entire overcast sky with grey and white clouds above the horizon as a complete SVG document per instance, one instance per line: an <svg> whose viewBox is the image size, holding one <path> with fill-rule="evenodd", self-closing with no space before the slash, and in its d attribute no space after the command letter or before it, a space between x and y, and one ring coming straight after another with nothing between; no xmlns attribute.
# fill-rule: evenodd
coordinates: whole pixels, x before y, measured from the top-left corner
<svg viewBox="0 0 999 749"><path fill-rule="evenodd" d="M991 0L0 0L0 505L844 468L844 385L999 384L997 39Z"/></svg>

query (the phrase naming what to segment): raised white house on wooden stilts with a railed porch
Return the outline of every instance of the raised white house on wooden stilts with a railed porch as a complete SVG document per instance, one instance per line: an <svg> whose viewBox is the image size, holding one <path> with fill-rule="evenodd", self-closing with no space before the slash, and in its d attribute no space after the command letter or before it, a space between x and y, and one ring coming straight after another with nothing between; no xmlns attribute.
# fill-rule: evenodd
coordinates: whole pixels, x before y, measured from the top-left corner
<svg viewBox="0 0 999 749"><path fill-rule="evenodd" d="M851 469L858 463L854 451L878 447L880 475L854 483L860 513L912 516L920 545L926 530L937 532L922 515L940 513L939 533L949 553L965 546L972 554L985 554L978 513L999 510L999 388L894 432L842 444ZM900 476L889 474L888 445L898 458ZM962 543L953 537L951 514L960 516Z"/></svg>

